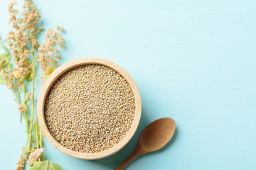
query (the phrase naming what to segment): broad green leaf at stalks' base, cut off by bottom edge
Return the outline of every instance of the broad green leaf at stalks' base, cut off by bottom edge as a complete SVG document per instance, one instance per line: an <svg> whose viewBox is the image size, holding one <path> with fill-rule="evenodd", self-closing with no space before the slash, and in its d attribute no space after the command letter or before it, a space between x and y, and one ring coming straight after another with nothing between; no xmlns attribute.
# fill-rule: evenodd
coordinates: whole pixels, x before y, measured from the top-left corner
<svg viewBox="0 0 256 170"><path fill-rule="evenodd" d="M35 161L29 170L62 170L58 164L53 164L48 160L43 162Z"/></svg>

